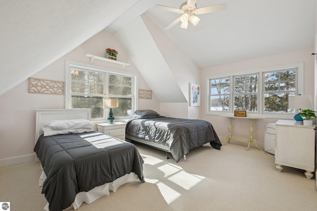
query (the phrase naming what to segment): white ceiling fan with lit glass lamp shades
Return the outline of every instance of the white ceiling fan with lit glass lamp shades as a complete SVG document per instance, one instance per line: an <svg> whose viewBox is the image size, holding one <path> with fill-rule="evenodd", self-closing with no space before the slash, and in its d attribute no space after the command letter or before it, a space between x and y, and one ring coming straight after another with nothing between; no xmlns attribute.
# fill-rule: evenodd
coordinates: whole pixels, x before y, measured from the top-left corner
<svg viewBox="0 0 317 211"><path fill-rule="evenodd" d="M168 30L175 26L179 21L181 21L180 27L183 29L187 29L188 27L188 21L195 26L200 21L200 18L195 15L205 14L205 13L211 13L211 12L221 12L226 9L227 5L225 3L217 4L213 6L207 6L202 8L196 7L196 0L187 0L187 2L184 2L180 5L180 9L164 6L164 5L155 5L159 9L163 9L170 12L176 12L181 14L176 20L168 24L164 29Z"/></svg>

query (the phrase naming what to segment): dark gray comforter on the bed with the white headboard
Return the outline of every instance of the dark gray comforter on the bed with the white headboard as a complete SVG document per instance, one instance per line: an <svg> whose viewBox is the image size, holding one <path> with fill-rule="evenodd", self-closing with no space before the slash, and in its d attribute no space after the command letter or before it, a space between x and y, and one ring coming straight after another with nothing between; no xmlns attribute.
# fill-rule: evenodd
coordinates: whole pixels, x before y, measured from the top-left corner
<svg viewBox="0 0 317 211"><path fill-rule="evenodd" d="M144 182L144 161L137 148L97 131L41 135L34 151L47 175L42 193L50 203L50 211L66 209L77 193L130 172Z"/></svg>

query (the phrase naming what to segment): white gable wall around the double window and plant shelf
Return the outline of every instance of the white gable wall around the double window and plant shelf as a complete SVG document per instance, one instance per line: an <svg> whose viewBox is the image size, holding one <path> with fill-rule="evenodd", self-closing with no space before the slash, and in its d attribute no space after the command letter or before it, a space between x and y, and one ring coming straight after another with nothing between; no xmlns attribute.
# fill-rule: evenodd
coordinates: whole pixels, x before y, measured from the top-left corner
<svg viewBox="0 0 317 211"><path fill-rule="evenodd" d="M139 75L139 89L150 89L114 36L105 31L56 60L33 75L32 78L64 82L66 60L90 64L90 59L85 55L89 53L104 57L107 47L118 51L118 61L131 64L126 66L124 71ZM19 62L18 59L16 62ZM121 65L96 59L92 65L116 70L122 69ZM39 108L65 108L65 96L28 93L28 80L0 96L0 167L34 160L35 109ZM159 101L155 95L152 96L152 99L139 99L139 109L159 111Z"/></svg>

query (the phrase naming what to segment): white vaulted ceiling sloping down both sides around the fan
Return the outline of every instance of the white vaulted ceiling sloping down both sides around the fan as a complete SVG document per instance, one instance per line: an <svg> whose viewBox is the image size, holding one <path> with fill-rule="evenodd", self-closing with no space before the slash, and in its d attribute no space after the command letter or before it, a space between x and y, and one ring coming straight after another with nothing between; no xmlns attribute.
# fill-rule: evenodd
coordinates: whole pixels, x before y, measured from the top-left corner
<svg viewBox="0 0 317 211"><path fill-rule="evenodd" d="M197 0L226 3L201 14L202 28L163 28L185 0L1 0L0 95L102 30L117 32L145 13L200 68L314 47L316 0Z"/></svg>

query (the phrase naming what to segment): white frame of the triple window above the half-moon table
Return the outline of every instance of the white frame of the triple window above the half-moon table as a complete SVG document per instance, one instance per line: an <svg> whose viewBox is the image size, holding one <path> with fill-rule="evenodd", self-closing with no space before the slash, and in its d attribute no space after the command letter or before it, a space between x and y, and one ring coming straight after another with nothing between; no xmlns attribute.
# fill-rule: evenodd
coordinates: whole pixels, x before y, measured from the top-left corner
<svg viewBox="0 0 317 211"><path fill-rule="evenodd" d="M286 65L279 65L249 71L241 71L235 73L228 73L228 74L217 74L212 76L206 76L206 96L205 96L205 114L206 115L232 115L234 116L234 105L233 105L233 91L234 91L234 76L243 76L243 75L250 75L250 74L259 74L259 111L256 113L247 112L248 116L250 117L264 117L264 118L274 118L274 119L293 119L294 113L271 113L265 114L264 113L264 79L263 73L265 72L272 72L272 71L283 71L288 69L297 69L297 90L296 95L304 94L304 63L294 63L294 64L286 64ZM225 78L230 77L230 93L229 93L229 112L223 111L210 111L209 109L209 97L210 97L210 80L211 79L218 79L218 78Z"/></svg>

